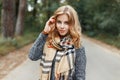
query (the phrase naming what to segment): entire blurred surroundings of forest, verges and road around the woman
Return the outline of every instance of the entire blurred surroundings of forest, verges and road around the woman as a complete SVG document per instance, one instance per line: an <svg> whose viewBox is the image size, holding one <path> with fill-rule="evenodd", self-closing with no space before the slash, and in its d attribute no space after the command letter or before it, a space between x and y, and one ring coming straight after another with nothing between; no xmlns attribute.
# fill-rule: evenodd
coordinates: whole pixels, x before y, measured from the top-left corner
<svg viewBox="0 0 120 80"><path fill-rule="evenodd" d="M53 12L66 4L78 12L87 80L120 80L120 0L0 0L0 80L23 61L3 80L38 80L39 62L26 61L28 51Z"/></svg>

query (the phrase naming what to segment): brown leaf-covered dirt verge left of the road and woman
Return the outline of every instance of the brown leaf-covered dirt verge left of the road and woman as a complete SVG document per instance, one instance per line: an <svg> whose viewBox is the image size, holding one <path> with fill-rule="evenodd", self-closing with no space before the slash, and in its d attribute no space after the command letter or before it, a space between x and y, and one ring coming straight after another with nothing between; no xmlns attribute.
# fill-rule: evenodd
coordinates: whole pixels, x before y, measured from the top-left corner
<svg viewBox="0 0 120 80"><path fill-rule="evenodd" d="M0 57L0 80L27 59L31 46L32 44L29 44L21 49L10 52L6 56Z"/></svg>

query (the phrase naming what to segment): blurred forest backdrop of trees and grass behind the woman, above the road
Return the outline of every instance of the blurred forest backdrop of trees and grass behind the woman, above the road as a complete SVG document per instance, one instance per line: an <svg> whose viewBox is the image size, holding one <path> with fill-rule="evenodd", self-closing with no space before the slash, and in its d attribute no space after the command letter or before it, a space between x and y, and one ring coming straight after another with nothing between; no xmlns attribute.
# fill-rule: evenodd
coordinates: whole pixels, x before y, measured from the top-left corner
<svg viewBox="0 0 120 80"><path fill-rule="evenodd" d="M0 0L0 56L32 43L65 4L78 12L83 34L120 49L120 0Z"/></svg>

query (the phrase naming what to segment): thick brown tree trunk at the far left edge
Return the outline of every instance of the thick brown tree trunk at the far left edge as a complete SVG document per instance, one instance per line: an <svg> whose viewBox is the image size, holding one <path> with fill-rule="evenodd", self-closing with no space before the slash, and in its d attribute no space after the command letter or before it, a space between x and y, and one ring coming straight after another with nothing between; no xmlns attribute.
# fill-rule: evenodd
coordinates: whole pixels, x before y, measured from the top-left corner
<svg viewBox="0 0 120 80"><path fill-rule="evenodd" d="M2 26L2 35L4 38L14 37L14 26L15 26L14 0L2 0L1 26Z"/></svg>

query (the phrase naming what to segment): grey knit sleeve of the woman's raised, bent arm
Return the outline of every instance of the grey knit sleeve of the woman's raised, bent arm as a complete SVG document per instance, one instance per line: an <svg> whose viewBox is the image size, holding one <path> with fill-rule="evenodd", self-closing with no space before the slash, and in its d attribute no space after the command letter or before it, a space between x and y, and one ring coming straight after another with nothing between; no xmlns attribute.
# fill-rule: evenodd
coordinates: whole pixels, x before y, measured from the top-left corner
<svg viewBox="0 0 120 80"><path fill-rule="evenodd" d="M30 48L28 57L36 61L41 58L41 55L43 54L43 47L46 42L47 35L40 33L38 38L35 40L34 44Z"/></svg>

